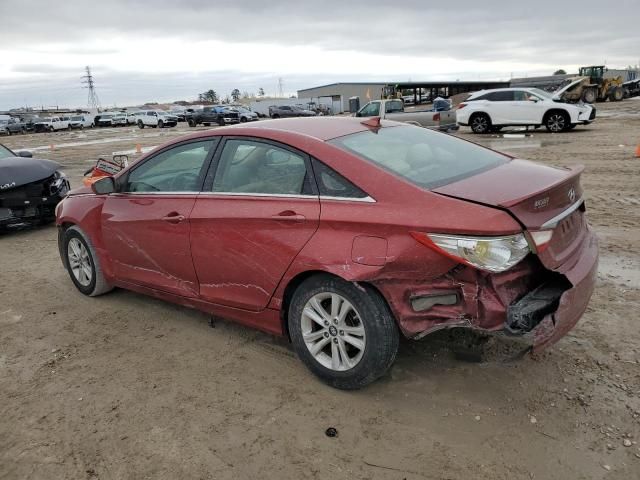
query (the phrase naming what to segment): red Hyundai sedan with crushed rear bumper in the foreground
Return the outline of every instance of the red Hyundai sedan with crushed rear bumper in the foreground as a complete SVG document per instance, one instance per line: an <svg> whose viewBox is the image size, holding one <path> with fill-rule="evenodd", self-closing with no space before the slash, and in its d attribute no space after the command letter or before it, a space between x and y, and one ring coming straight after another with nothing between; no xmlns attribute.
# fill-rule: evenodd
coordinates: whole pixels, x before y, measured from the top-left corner
<svg viewBox="0 0 640 480"><path fill-rule="evenodd" d="M582 168L395 122L258 122L167 143L57 208L75 286L121 287L288 336L338 388L399 335L464 326L541 348L578 321L598 246Z"/></svg>

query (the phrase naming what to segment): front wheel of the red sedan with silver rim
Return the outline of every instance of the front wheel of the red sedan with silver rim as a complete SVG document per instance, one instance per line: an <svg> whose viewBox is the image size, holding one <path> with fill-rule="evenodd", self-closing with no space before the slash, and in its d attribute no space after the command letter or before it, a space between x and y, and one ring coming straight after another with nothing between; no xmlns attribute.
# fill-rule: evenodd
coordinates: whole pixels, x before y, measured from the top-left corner
<svg viewBox="0 0 640 480"><path fill-rule="evenodd" d="M113 289L104 278L91 240L79 227L65 230L62 254L71 281L81 293L95 297Z"/></svg>

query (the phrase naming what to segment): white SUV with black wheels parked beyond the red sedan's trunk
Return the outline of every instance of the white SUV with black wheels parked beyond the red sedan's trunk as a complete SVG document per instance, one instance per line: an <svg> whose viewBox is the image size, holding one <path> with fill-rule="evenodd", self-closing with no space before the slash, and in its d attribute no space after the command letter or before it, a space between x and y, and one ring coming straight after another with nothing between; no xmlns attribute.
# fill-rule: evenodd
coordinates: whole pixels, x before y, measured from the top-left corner
<svg viewBox="0 0 640 480"><path fill-rule="evenodd" d="M542 125L550 132L562 132L587 125L596 117L589 104L556 101L538 88L498 88L481 90L458 105L458 123L474 133L497 132L506 126Z"/></svg>

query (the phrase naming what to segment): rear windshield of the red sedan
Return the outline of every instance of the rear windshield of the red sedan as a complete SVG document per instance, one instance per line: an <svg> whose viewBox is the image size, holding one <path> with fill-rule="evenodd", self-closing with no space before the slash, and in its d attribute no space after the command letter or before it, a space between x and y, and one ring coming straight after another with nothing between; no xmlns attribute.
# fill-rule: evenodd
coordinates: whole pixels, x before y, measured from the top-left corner
<svg viewBox="0 0 640 480"><path fill-rule="evenodd" d="M430 189L489 170L508 157L445 133L385 127L330 140L419 187Z"/></svg>

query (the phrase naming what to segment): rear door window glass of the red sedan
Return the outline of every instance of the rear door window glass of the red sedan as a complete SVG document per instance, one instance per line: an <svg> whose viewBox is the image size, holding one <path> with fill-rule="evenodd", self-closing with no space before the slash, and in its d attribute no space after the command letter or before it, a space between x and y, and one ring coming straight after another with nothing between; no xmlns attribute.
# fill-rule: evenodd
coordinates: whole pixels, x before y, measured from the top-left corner
<svg viewBox="0 0 640 480"><path fill-rule="evenodd" d="M269 143L227 140L213 191L301 195L311 193L311 186L301 155Z"/></svg>

